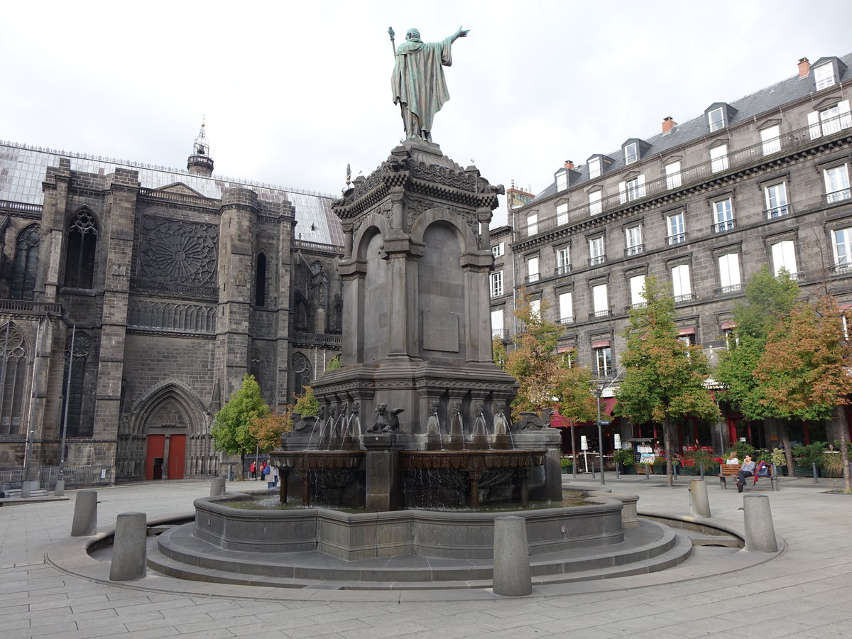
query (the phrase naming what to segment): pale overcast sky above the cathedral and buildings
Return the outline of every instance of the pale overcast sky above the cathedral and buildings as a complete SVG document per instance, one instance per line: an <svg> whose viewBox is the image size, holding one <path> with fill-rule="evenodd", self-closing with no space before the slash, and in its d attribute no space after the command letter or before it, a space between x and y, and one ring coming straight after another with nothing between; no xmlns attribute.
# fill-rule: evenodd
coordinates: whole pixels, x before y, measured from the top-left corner
<svg viewBox="0 0 852 639"><path fill-rule="evenodd" d="M471 30L433 139L533 193L566 159L852 50L849 0L48 0L4 3L3 23L0 139L184 168L204 113L216 175L333 194L403 135L388 26L397 45Z"/></svg>

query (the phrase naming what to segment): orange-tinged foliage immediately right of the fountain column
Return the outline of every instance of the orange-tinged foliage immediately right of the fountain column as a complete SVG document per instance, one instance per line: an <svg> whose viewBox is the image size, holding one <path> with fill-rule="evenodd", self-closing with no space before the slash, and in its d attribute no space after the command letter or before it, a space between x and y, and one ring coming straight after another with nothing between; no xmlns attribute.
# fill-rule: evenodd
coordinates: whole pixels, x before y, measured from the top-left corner
<svg viewBox="0 0 852 639"><path fill-rule="evenodd" d="M588 421L595 417L595 399L591 394L591 374L575 366L571 353L557 353L561 326L544 320L547 305L536 311L524 292L515 317L526 330L515 335L515 348L504 355L505 371L518 380L518 393L512 401L512 417L521 412L541 412L559 406L563 417Z"/></svg>

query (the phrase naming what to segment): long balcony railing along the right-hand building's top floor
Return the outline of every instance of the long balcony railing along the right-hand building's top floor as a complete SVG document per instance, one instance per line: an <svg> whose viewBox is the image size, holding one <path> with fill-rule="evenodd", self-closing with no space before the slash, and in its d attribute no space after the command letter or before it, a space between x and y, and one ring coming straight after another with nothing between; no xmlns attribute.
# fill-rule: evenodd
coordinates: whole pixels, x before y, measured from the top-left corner
<svg viewBox="0 0 852 639"><path fill-rule="evenodd" d="M739 169L740 167L745 167L749 164L755 164L763 161L763 158L770 158L778 153L793 153L798 149L803 149L807 147L811 147L815 144L815 139L818 137L826 137L828 135L838 135L844 130L852 127L852 117L849 116L849 113L843 113L837 118L831 118L822 122L820 124L815 124L813 126L805 126L801 129L796 129L792 131L785 131L784 135L781 135L777 139L777 144L775 141L771 141L771 144L768 144L769 141L760 141L757 144L751 145L751 147L743 147L740 149L730 149L728 151L728 172ZM770 151L777 150L777 153L769 153ZM668 193L670 191L675 191L681 188L690 187L693 184L701 183L703 181L715 180L724 175L724 172L714 173L711 170L712 161L708 159L708 161L703 162L701 164L695 164L694 166L685 167L680 172L680 180L672 180L672 176L668 176L669 183L666 183L666 176L661 176L658 179L646 181L643 185L644 187L644 197L636 199L634 202L622 203L621 196L619 193L613 193L612 195L603 198L599 201L593 202L589 204L588 202L585 204L581 204L573 209L568 210L567 219L565 213L561 213L559 219L557 221L557 216L554 214L550 217L540 217L538 218L538 225L535 228L535 233L527 232L526 222L523 224L516 224L515 228L519 229L515 231L515 240L523 239L527 237L533 237L533 235L539 233L549 233L550 231L555 230L558 227L564 227L571 224L577 224L584 222L590 216L603 215L610 211L624 209L627 206L632 206L636 204L636 202L641 202L642 199L654 198L663 193ZM588 180L582 182L584 185L588 186L593 183L600 184L602 181L607 181L607 178L611 176L602 176L602 178L595 178L593 180ZM679 183L676 183L679 182ZM574 185L572 185L572 188ZM608 185L607 185L608 187ZM829 199L830 196L834 196L834 193L828 193L826 195L826 200L829 203L842 201L845 199L849 199L852 197L852 193L850 193L849 188L844 188L840 191L838 199ZM540 215L540 214L539 214ZM561 224L559 222L562 222ZM677 237L677 236L670 236ZM670 242L671 244L677 244L677 242Z"/></svg>

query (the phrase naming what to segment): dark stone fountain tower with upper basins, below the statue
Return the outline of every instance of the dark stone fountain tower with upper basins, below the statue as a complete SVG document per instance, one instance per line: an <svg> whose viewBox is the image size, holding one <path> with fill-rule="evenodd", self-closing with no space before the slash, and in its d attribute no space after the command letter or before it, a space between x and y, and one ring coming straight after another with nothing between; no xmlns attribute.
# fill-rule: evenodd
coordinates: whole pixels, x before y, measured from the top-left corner
<svg viewBox="0 0 852 639"><path fill-rule="evenodd" d="M492 361L498 193L475 166L409 139L333 204L345 233L343 366L313 383L320 416L297 418L271 454L283 502L561 500L560 439L544 420L511 427L515 378Z"/></svg>

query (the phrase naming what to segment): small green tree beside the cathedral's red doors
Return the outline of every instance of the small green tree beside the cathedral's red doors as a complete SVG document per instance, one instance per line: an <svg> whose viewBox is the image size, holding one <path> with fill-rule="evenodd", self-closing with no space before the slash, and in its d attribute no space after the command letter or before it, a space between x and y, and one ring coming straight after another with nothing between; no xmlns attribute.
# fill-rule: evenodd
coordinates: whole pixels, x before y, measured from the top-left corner
<svg viewBox="0 0 852 639"><path fill-rule="evenodd" d="M210 429L213 446L217 451L239 454L242 476L245 476L245 454L256 451L259 446L256 436L250 432L250 425L268 414L269 406L261 399L261 388L252 375L243 377L242 385L216 413Z"/></svg>

